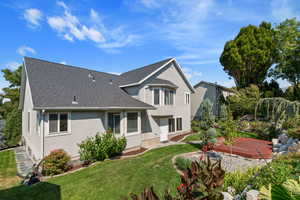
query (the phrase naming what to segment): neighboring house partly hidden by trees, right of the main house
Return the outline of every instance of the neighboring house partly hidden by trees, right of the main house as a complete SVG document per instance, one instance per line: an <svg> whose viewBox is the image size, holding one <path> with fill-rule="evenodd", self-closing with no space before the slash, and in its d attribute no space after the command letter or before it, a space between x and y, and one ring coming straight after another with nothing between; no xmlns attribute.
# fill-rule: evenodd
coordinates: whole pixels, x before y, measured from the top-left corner
<svg viewBox="0 0 300 200"><path fill-rule="evenodd" d="M229 95L235 94L235 91L230 88L218 85L216 83L209 83L201 81L194 86L194 93L192 94L192 119L199 119L200 105L205 99L209 99L213 104L213 113L215 116L220 115L220 97L225 99Z"/></svg>

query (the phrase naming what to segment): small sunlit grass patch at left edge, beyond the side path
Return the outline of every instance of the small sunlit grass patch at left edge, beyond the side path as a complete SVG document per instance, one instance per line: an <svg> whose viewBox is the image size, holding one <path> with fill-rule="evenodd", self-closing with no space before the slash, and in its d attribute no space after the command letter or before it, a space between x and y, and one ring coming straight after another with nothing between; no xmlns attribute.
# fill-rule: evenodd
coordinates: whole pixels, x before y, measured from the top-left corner
<svg viewBox="0 0 300 200"><path fill-rule="evenodd" d="M13 150L0 152L0 189L17 185L19 178L16 176L16 160Z"/></svg>

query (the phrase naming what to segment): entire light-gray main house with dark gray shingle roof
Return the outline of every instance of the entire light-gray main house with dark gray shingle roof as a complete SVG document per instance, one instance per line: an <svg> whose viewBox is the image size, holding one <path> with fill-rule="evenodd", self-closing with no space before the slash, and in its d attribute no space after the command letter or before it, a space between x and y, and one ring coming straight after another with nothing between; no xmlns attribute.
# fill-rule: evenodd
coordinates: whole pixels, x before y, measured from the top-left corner
<svg viewBox="0 0 300 200"><path fill-rule="evenodd" d="M194 91L174 58L121 75L24 58L19 108L28 154L54 149L78 156L78 144L111 129L127 149L190 131Z"/></svg>

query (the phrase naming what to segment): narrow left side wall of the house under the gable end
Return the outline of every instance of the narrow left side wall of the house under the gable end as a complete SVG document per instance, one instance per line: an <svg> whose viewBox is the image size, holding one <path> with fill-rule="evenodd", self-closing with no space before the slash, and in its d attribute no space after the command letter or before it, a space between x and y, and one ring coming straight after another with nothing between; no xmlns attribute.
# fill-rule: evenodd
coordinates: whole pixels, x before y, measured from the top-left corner
<svg viewBox="0 0 300 200"><path fill-rule="evenodd" d="M28 112L30 113L30 121L28 122ZM30 131L28 131L28 123ZM41 129L37 128L37 111L33 110L33 102L28 79L25 83L24 105L22 109L22 137L28 155L33 160L42 158L41 147Z"/></svg>

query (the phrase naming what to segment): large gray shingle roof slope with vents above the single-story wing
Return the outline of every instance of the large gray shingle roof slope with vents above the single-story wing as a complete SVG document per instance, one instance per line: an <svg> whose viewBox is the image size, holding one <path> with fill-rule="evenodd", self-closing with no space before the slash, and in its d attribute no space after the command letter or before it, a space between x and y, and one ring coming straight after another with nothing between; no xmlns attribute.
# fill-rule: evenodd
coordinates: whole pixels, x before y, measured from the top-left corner
<svg viewBox="0 0 300 200"><path fill-rule="evenodd" d="M153 108L123 91L118 75L28 57L24 63L35 108Z"/></svg>

